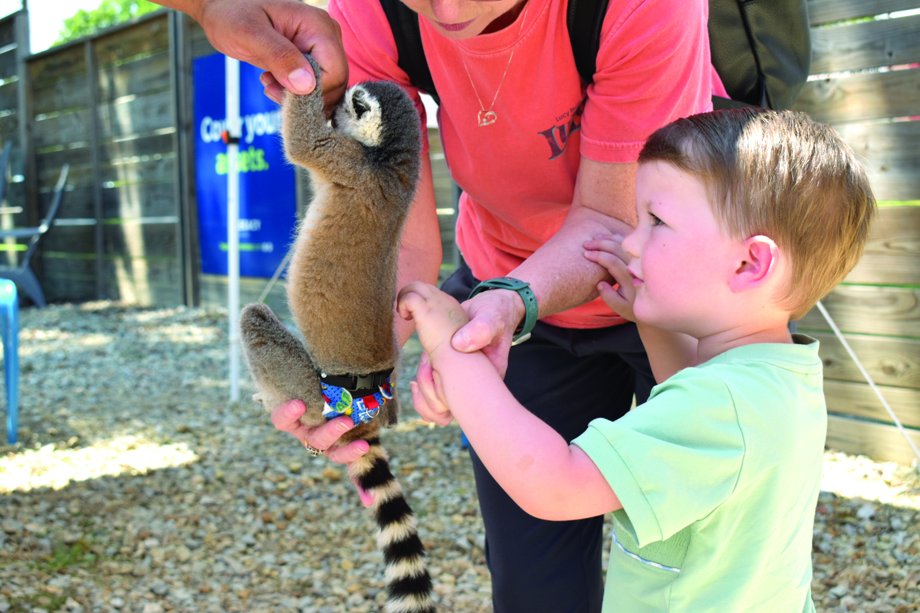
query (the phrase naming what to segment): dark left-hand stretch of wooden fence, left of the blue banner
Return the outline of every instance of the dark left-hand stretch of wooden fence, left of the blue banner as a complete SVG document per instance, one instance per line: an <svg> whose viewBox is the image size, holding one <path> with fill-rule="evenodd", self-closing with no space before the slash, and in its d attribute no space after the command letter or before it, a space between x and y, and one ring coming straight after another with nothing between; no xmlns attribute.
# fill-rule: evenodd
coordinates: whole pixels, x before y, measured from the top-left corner
<svg viewBox="0 0 920 613"><path fill-rule="evenodd" d="M189 21L164 9L25 61L18 118L31 221L61 165L71 167L36 263L49 301L194 301L194 215L183 194Z"/></svg>

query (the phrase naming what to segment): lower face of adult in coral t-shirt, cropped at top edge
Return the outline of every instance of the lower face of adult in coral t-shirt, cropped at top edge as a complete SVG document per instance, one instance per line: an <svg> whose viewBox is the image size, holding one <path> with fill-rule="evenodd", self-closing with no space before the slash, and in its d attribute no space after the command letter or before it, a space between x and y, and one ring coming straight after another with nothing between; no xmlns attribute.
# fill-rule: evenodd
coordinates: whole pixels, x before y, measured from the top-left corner
<svg viewBox="0 0 920 613"><path fill-rule="evenodd" d="M470 39L511 25L528 0L402 0L445 38Z"/></svg>

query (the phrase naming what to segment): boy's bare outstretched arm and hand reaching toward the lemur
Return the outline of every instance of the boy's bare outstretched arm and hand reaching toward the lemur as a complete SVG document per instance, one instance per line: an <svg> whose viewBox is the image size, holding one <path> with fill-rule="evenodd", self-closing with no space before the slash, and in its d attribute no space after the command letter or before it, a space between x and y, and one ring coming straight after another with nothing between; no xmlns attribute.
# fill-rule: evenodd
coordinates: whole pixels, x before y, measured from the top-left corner
<svg viewBox="0 0 920 613"><path fill-rule="evenodd" d="M489 473L526 513L561 521L622 507L588 455L518 403L489 358L451 347L466 323L459 303L413 283L400 292L399 310L415 320L434 368L433 378L420 370L420 393L450 407Z"/></svg>

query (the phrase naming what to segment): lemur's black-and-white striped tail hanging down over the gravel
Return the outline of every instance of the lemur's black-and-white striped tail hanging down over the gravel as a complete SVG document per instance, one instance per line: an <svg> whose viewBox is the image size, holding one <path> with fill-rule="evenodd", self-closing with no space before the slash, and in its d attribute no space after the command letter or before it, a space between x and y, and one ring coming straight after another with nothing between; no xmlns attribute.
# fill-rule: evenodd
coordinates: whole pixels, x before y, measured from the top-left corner
<svg viewBox="0 0 920 613"><path fill-rule="evenodd" d="M434 613L431 575L425 548L416 531L415 516L390 472L380 439L367 439L370 450L351 463L351 478L374 496L371 512L377 521L377 548L384 553L385 613Z"/></svg>

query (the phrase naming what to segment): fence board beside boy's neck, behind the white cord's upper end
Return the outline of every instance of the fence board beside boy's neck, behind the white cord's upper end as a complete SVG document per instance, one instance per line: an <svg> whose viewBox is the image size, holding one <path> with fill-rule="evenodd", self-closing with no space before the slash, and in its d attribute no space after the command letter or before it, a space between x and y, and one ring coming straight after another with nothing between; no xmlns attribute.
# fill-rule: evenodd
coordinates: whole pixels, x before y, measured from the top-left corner
<svg viewBox="0 0 920 613"><path fill-rule="evenodd" d="M920 289L840 285L822 303L844 332L920 338ZM799 328L828 331L831 326L812 309Z"/></svg>

